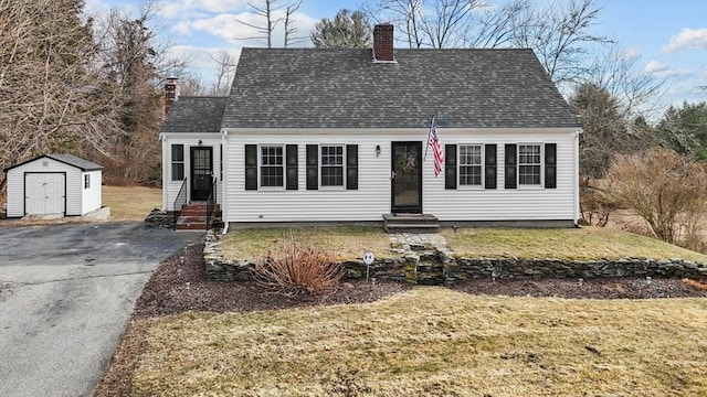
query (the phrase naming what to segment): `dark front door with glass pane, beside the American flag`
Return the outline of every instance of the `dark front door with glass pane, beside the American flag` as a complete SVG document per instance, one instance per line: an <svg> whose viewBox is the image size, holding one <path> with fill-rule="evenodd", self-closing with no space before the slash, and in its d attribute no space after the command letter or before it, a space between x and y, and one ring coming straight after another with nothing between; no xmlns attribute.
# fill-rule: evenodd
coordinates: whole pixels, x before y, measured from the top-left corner
<svg viewBox="0 0 707 397"><path fill-rule="evenodd" d="M422 213L422 142L392 142L393 214Z"/></svg>

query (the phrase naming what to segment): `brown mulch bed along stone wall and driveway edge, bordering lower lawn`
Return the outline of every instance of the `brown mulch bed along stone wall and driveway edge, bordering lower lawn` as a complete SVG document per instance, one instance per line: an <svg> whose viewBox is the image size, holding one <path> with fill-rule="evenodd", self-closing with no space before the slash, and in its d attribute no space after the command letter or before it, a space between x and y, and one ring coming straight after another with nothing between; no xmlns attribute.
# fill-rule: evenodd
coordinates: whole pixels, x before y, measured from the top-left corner
<svg viewBox="0 0 707 397"><path fill-rule="evenodd" d="M203 244L191 245L162 261L145 286L123 342L116 350L94 396L129 396L133 373L144 346L144 336L157 316L186 311L244 312L365 303L407 291L410 285L370 283L361 280L341 282L321 296L286 297L271 292L254 282L221 282L207 279L202 258ZM704 282L706 282L705 280ZM568 299L654 299L707 298L707 291L678 279L615 278L583 280L547 279L536 281L467 280L456 282L454 290L473 294L514 297L557 297Z"/></svg>

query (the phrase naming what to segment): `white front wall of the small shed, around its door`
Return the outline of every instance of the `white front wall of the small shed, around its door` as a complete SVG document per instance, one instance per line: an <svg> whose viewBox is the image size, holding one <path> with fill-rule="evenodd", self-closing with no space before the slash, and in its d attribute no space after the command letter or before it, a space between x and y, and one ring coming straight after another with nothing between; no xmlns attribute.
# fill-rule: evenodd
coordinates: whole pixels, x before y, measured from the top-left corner
<svg viewBox="0 0 707 397"><path fill-rule="evenodd" d="M8 217L22 217L24 212L24 174L35 173L65 173L66 174L66 210L65 215L82 215L82 190L76 189L81 180L80 169L63 162L40 158L8 171Z"/></svg>

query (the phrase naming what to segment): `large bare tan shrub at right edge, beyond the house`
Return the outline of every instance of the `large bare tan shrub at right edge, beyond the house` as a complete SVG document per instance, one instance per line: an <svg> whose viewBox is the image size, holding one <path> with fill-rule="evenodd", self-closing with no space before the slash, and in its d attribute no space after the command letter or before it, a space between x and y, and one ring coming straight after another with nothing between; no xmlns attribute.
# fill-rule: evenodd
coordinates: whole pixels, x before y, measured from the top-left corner
<svg viewBox="0 0 707 397"><path fill-rule="evenodd" d="M700 216L707 207L707 171L667 149L615 155L606 198L636 211L655 236L699 248Z"/></svg>

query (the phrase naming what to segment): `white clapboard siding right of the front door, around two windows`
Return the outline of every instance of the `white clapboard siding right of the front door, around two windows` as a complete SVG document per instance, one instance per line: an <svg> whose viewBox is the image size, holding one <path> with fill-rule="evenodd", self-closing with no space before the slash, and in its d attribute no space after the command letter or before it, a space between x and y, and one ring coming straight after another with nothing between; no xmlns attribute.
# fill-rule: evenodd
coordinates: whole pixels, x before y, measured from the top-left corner
<svg viewBox="0 0 707 397"><path fill-rule="evenodd" d="M423 169L422 210L440 221L567 221L577 219L574 133L495 133L468 137L441 132L442 143L497 144L496 189L458 186L444 189L444 173L434 176L433 159ZM493 138L493 140L492 140ZM521 186L504 189L505 144L557 143L557 189ZM540 174L545 183L545 164Z"/></svg>

